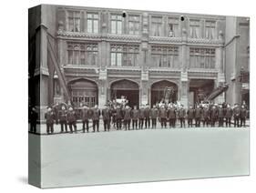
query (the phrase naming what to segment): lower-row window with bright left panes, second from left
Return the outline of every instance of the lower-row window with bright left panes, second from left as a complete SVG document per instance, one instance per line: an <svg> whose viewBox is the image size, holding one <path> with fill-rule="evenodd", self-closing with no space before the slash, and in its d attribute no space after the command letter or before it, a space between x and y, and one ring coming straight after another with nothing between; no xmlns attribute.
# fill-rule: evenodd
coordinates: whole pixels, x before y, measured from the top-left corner
<svg viewBox="0 0 256 193"><path fill-rule="evenodd" d="M111 66L138 66L138 46L112 45Z"/></svg>

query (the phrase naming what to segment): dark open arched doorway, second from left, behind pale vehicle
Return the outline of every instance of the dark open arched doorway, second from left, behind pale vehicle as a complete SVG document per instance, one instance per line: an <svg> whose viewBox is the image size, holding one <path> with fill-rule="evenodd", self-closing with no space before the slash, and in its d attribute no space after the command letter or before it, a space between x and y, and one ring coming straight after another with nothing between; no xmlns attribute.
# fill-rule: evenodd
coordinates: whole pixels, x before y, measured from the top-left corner
<svg viewBox="0 0 256 193"><path fill-rule="evenodd" d="M125 96L128 99L128 106L138 106L138 84L130 80L118 80L110 86L111 99L121 98Z"/></svg>

